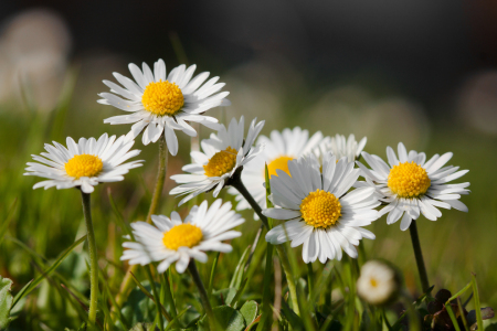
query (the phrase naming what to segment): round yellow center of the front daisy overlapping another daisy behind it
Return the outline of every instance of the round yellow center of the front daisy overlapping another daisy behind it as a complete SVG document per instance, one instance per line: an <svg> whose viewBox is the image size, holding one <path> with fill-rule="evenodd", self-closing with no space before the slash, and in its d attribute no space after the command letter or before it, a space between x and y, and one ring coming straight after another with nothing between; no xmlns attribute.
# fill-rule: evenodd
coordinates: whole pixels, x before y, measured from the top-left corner
<svg viewBox="0 0 497 331"><path fill-rule="evenodd" d="M332 193L316 190L302 201L300 213L308 225L327 228L341 216L341 204Z"/></svg>

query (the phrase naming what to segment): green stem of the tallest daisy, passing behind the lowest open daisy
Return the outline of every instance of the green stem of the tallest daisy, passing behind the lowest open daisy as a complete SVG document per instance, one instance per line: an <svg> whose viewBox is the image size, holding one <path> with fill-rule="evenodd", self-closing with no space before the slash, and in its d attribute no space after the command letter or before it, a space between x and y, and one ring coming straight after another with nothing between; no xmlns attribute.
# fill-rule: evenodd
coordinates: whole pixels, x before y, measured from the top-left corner
<svg viewBox="0 0 497 331"><path fill-rule="evenodd" d="M168 147L166 145L166 138L163 135L159 138L159 169L157 170L157 181L156 188L154 189L154 195L150 202L150 209L148 210L147 223L151 223L151 215L157 213L160 195L162 194L163 183L166 180L167 172L167 163L168 163ZM123 282L120 284L120 290L117 295L116 302L119 309L125 302L128 292L135 286L135 282L131 277L131 273L136 274L139 265L133 265L128 268Z"/></svg>

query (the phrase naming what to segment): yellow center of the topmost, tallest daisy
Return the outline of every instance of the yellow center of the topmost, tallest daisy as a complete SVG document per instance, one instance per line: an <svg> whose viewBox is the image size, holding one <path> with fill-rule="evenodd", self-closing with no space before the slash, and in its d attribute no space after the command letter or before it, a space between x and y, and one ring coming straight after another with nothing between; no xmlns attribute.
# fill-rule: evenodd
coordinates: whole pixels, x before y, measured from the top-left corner
<svg viewBox="0 0 497 331"><path fill-rule="evenodd" d="M146 110L158 116L172 116L184 105L184 98L176 83L160 79L147 85L141 97L141 104L144 104Z"/></svg>

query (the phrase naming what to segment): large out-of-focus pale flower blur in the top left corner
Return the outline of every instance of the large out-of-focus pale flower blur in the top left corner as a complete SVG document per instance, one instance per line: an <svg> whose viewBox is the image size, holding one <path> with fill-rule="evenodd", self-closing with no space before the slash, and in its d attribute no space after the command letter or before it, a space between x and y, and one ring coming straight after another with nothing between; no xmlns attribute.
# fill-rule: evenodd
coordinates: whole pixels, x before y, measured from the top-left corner
<svg viewBox="0 0 497 331"><path fill-rule="evenodd" d="M0 100L32 98L36 110L51 110L60 98L71 49L65 22L55 12L23 11L0 34Z"/></svg>

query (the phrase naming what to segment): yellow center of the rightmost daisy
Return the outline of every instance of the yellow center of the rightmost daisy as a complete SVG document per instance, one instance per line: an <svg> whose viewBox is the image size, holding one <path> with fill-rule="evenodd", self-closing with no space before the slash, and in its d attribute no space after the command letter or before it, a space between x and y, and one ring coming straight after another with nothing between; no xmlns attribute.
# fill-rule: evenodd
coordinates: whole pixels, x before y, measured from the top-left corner
<svg viewBox="0 0 497 331"><path fill-rule="evenodd" d="M388 185L401 197L417 197L426 193L431 181L423 167L414 163L400 163L390 170Z"/></svg>

